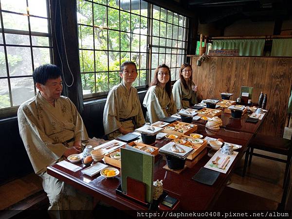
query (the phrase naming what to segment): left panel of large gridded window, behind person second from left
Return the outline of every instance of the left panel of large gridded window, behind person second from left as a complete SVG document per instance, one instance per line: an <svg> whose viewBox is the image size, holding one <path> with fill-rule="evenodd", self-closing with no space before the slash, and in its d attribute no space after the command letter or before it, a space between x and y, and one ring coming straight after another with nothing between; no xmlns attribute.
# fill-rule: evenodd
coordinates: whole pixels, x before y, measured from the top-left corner
<svg viewBox="0 0 292 219"><path fill-rule="evenodd" d="M77 4L84 96L104 95L120 83L118 71L121 63L127 60L134 61L137 66L138 77L133 86L145 87L148 3L140 0L135 8L130 3L131 10L115 5L115 0L77 0ZM91 23L84 19L88 10L91 10ZM89 43L90 38L93 38L92 43Z"/></svg>

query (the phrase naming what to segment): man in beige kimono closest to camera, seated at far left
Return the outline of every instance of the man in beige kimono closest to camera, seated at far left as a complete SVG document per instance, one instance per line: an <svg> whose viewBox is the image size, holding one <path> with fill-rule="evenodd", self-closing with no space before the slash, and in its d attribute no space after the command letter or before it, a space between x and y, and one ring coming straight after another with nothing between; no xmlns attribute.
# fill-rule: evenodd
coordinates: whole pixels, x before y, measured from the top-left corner
<svg viewBox="0 0 292 219"><path fill-rule="evenodd" d="M91 197L46 171L47 166L80 153L81 142L88 140L76 107L68 97L61 96L61 71L55 65L46 64L34 71L33 78L39 91L19 107L18 126L29 159L48 195L49 210L92 209ZM54 214L63 212L54 211Z"/></svg>

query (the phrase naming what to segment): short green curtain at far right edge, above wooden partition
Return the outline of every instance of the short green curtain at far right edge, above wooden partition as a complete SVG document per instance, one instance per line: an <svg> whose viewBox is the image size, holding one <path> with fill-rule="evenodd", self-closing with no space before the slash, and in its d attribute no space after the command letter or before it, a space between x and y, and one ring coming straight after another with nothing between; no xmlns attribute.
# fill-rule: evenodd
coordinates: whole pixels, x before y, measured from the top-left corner
<svg viewBox="0 0 292 219"><path fill-rule="evenodd" d="M292 39L273 39L271 56L292 56Z"/></svg>

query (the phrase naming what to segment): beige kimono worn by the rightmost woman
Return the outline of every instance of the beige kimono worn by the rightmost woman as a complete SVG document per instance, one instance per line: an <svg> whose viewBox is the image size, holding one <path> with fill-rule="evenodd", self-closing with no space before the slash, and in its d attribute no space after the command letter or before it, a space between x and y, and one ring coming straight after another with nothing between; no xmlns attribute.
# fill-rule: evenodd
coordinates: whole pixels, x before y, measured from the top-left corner
<svg viewBox="0 0 292 219"><path fill-rule="evenodd" d="M197 94L192 89L195 86L191 80L187 83L188 88L185 89L181 79L178 79L172 88L172 94L177 109L187 109L198 103Z"/></svg>

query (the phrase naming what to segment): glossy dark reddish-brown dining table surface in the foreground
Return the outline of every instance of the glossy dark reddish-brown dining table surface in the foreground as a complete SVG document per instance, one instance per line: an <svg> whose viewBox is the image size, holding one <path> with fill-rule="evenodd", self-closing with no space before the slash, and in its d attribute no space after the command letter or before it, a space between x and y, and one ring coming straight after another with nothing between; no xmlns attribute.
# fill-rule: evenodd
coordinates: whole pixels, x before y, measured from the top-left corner
<svg viewBox="0 0 292 219"><path fill-rule="evenodd" d="M207 154L192 168L186 168L180 174L165 170L163 166L166 163L164 159L162 159L162 156L158 155L160 157L159 159L156 159L157 162L154 165L154 180L164 180L164 191L170 196L180 200L180 209L182 210L212 209L213 204L217 201L221 191L224 189L234 171L237 161L241 160L246 151L248 143L254 135L252 131L256 129L253 128L250 132L244 132L241 130L220 128L218 131L210 133L203 124L197 125L198 129L196 133L202 134L203 137L209 136L213 138L222 138L228 143L241 145L242 147L237 149L238 154L226 174L220 173L218 179L212 186L192 180L192 177L201 169L201 167L211 159ZM154 146L161 147L169 141L170 140L166 138L157 140ZM209 150L210 149L211 148L209 148ZM76 164L85 167L82 163ZM89 177L82 174L81 170L72 172L58 164L47 167L47 172L55 178L71 184L75 188L90 194L93 197L97 197L117 209L148 210L146 206L116 194L116 188L121 183L120 175L112 179L107 179L99 173L93 177Z"/></svg>

